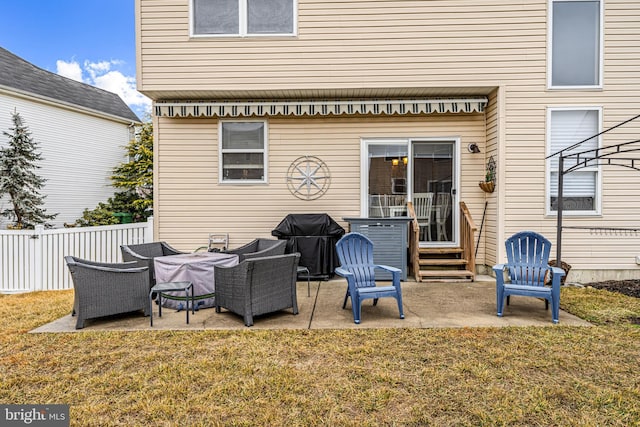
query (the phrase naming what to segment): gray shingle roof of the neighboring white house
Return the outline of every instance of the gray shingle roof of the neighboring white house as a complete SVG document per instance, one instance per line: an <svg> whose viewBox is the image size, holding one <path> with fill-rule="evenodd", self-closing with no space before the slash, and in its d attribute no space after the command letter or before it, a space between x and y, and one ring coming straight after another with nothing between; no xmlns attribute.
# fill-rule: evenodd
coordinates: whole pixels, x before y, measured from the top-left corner
<svg viewBox="0 0 640 427"><path fill-rule="evenodd" d="M38 68L0 47L0 87L26 92L139 122L138 116L115 93Z"/></svg>

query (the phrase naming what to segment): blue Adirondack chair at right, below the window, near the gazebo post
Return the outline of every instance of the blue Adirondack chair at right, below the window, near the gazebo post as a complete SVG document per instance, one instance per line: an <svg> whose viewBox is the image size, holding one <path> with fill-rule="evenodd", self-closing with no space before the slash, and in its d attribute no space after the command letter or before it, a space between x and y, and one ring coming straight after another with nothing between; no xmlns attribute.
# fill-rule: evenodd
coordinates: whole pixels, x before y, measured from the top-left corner
<svg viewBox="0 0 640 427"><path fill-rule="evenodd" d="M507 263L493 266L496 273L496 298L498 316L502 317L504 301L509 304L511 295L544 298L545 310L551 303L551 318L558 323L560 312L560 279L563 269L549 266L551 242L533 231L521 231L505 242ZM504 273L509 278L505 282ZM550 276L549 276L550 274ZM551 286L547 280L551 279Z"/></svg>

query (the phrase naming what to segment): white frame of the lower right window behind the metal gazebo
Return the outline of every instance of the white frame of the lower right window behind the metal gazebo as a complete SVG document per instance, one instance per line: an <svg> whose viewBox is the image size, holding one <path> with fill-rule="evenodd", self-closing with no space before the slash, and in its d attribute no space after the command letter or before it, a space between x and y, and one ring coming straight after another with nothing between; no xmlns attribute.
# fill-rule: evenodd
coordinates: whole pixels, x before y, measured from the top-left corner
<svg viewBox="0 0 640 427"><path fill-rule="evenodd" d="M546 151L547 157L551 154L551 114L554 111L597 111L598 112L598 124L597 133L602 132L602 107L598 106L562 106L562 107L547 107L547 130L546 130ZM580 141L576 141L580 142ZM598 137L598 148L602 147L602 137ZM602 169L598 166L588 167L580 169L582 172L595 172L595 200L594 209L589 211L562 211L562 216L601 216L602 214ZM557 169L551 168L551 159L547 159L546 174L545 174L545 211L547 216L555 217L558 215L557 210L551 210L551 173L557 172ZM565 175L565 179L567 176Z"/></svg>

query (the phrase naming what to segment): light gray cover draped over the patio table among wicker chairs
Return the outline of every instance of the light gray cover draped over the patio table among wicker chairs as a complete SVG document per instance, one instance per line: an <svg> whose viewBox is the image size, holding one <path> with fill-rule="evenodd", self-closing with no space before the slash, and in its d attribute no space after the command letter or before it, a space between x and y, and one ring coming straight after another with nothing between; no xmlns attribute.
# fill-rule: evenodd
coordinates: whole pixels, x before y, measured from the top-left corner
<svg viewBox="0 0 640 427"><path fill-rule="evenodd" d="M193 283L193 292L196 298L198 295L215 292L213 269L216 265L232 267L237 264L238 255L218 252L195 252L154 258L156 283L189 281ZM184 293L169 292L169 294L184 296ZM214 305L213 298L196 301L197 308L208 308ZM185 308L183 301L171 299L165 299L162 306L175 309Z"/></svg>

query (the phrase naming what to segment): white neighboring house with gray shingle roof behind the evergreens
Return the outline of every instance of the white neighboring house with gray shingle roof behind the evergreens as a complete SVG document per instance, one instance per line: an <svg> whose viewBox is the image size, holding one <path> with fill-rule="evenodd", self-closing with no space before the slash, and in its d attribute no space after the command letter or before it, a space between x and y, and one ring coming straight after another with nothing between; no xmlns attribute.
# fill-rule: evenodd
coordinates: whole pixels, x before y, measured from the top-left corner
<svg viewBox="0 0 640 427"><path fill-rule="evenodd" d="M20 113L39 145L43 160L36 171L47 182L47 213L62 227L113 196L110 176L126 160L125 146L140 119L111 92L36 67L0 48L0 131ZM7 143L0 137L0 146ZM10 206L8 198L0 207ZM6 218L2 224L10 223Z"/></svg>

